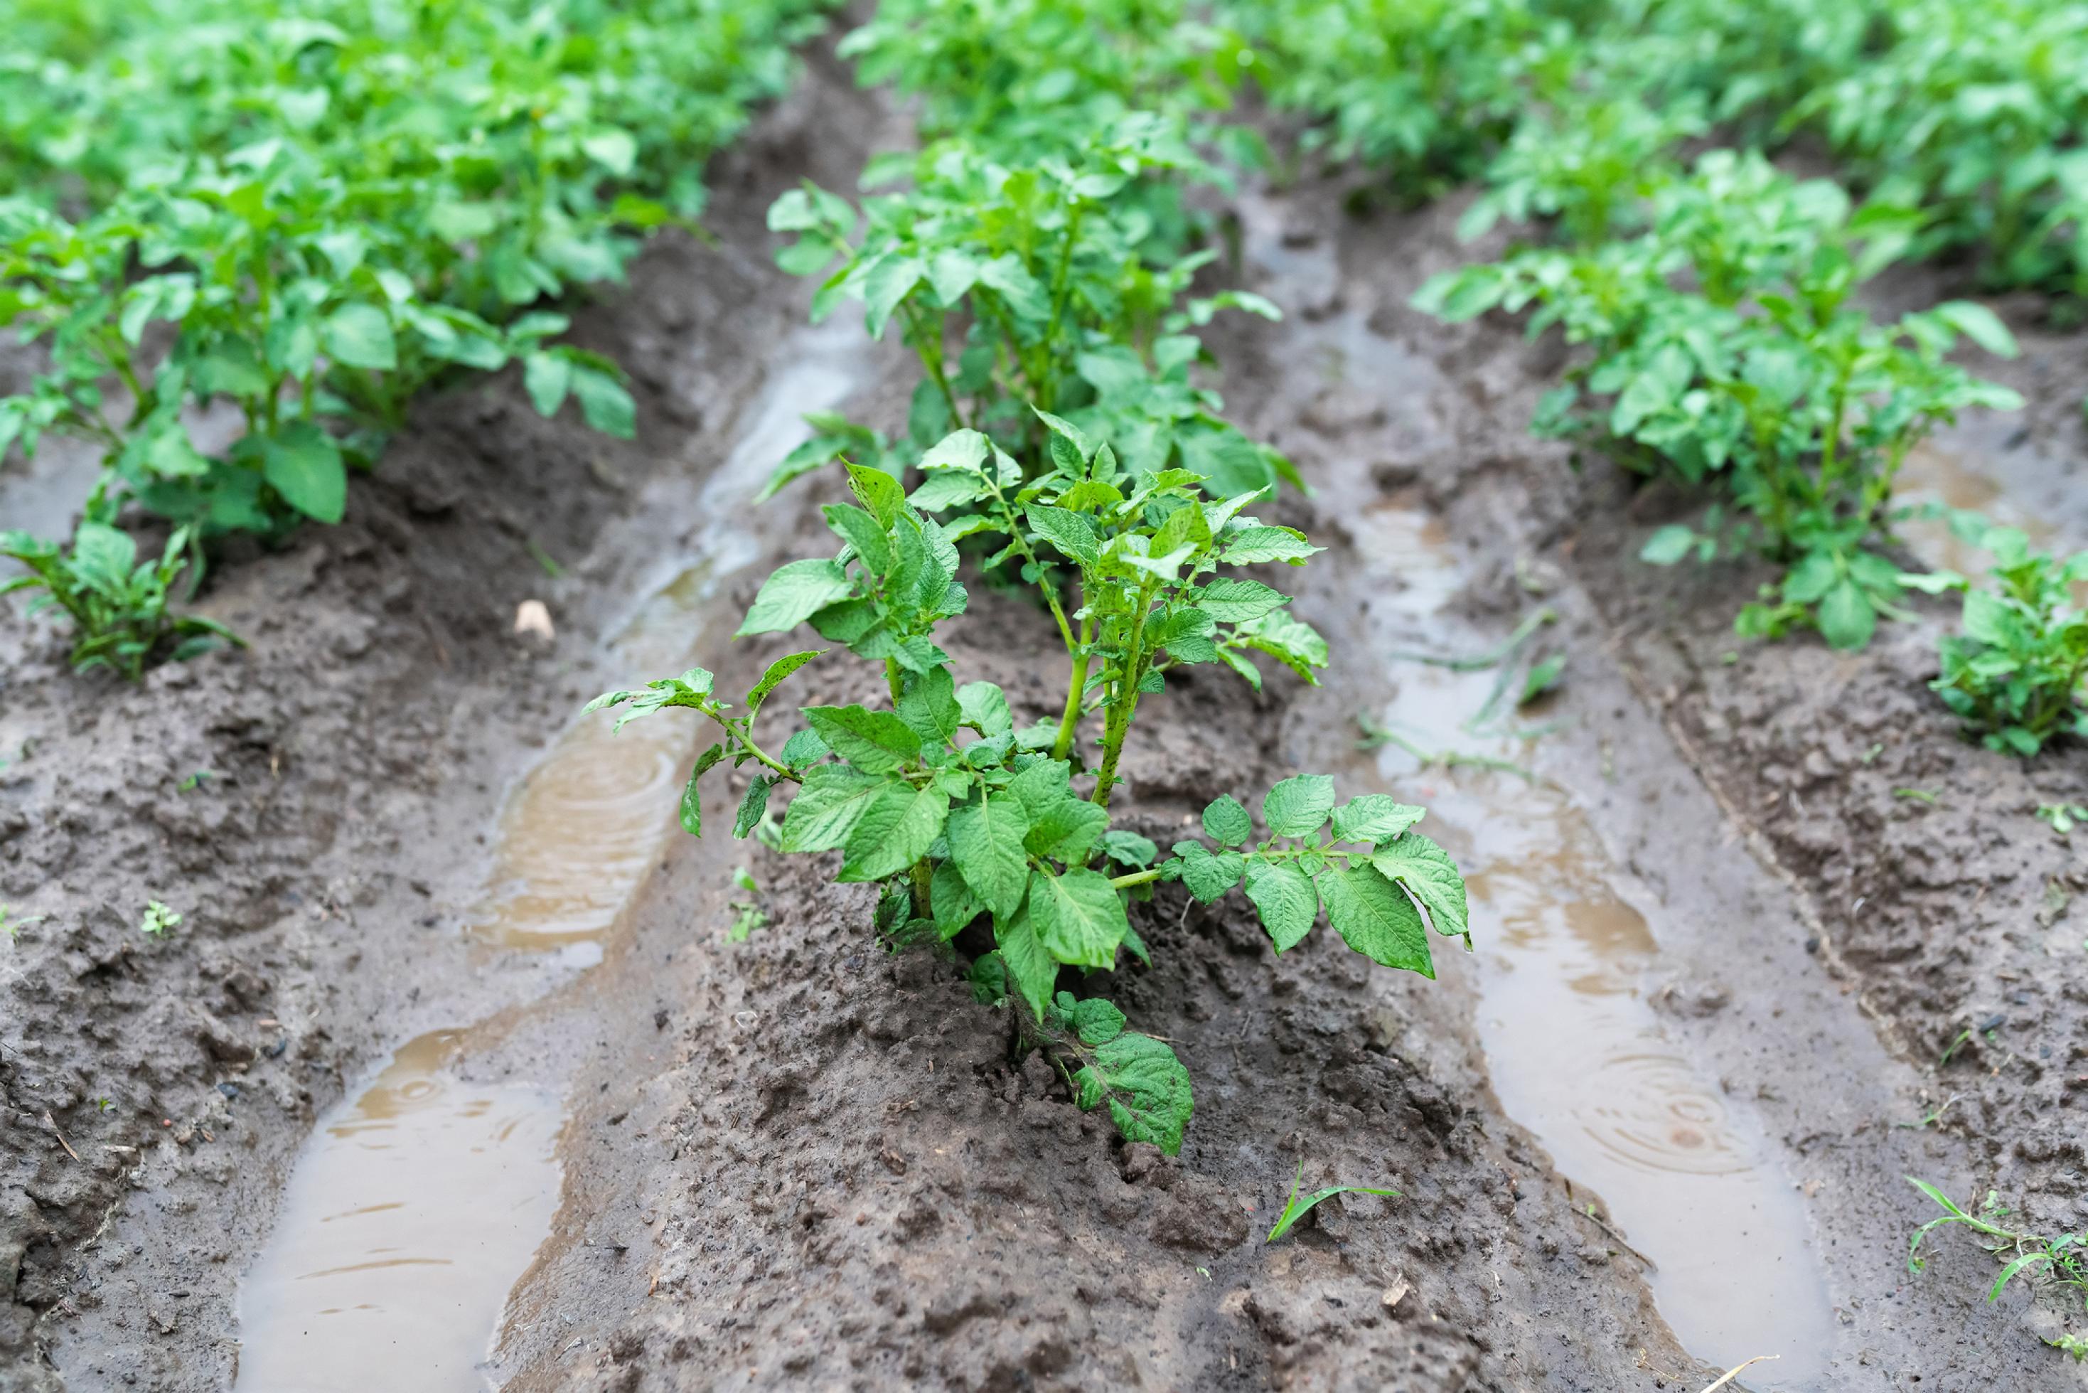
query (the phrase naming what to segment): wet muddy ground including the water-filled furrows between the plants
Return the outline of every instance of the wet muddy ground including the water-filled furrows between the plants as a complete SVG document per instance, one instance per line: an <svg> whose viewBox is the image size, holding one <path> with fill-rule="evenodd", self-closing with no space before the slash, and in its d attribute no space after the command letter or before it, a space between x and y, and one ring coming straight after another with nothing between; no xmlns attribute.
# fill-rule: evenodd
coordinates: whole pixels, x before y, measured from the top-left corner
<svg viewBox="0 0 2088 1393"><path fill-rule="evenodd" d="M798 411L894 426L908 378L852 322L800 328L760 215L892 132L821 63L716 171L716 244L664 242L580 315L639 376L635 445L472 386L345 526L221 568L253 654L121 691L0 629L0 900L42 917L0 944L0 1389L1610 1391L1764 1353L1727 1387L2078 1387L2055 1312L1988 1305L1969 1243L1906 1274L1929 1215L1900 1176L2082 1222L2088 871L2032 810L2088 762L1956 741L1931 624L1741 645L1758 576L1633 562L1689 499L1526 436L1543 345L1405 309L1470 255L1453 205L1242 194L1236 274L1288 320L1213 347L1232 416L1313 480L1270 512L1330 551L1270 579L1334 668L1171 683L1125 808L1165 844L1299 769L1426 802L1474 954L1432 984L1326 931L1276 959L1242 906L1163 888L1134 911L1155 967L1094 990L1190 1067L1167 1159L1015 1065L956 965L879 950L867 890L674 831L695 731L574 712L781 652L727 635L827 547L816 482L741 501ZM2025 430L1971 422L1911 487L2078 543L2082 374L2025 338ZM512 633L524 599L555 639ZM1566 666L1528 710L1474 721L1499 670L1411 656L1539 608L1528 652ZM1048 641L977 587L946 647L1029 721L1063 693ZM1359 750L1357 716L1405 743ZM146 898L180 929L142 936ZM766 915L745 942L735 902ZM1301 1165L1401 1197L1265 1245Z"/></svg>

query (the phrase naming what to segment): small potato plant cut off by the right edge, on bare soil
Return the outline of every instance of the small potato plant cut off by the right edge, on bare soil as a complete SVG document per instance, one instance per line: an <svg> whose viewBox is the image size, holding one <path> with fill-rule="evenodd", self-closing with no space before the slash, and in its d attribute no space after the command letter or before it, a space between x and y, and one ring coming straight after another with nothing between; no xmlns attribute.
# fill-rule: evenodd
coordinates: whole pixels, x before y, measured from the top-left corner
<svg viewBox="0 0 2088 1393"><path fill-rule="evenodd" d="M1938 643L1942 675L1929 683L1990 750L2032 756L2048 739L2088 735L2088 551L2061 562L2030 549L2009 526L1990 526L1994 589L1967 589L1961 633Z"/></svg>

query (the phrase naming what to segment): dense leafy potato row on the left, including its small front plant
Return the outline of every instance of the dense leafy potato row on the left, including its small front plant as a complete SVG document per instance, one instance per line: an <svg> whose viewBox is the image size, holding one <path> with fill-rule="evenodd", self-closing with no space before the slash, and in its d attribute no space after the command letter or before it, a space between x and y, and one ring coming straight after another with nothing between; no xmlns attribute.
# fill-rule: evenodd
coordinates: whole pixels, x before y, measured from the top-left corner
<svg viewBox="0 0 2088 1393"><path fill-rule="evenodd" d="M138 677L207 639L167 587L226 533L338 522L407 405L522 363L628 436L616 363L557 343L702 211L704 159L793 71L821 0L200 0L38 6L0 58L0 324L46 353L0 451L86 436L75 539L0 535ZM192 426L232 411L205 451ZM173 524L138 562L125 510ZM180 558L180 560L177 560ZM180 645L180 647L177 647Z"/></svg>

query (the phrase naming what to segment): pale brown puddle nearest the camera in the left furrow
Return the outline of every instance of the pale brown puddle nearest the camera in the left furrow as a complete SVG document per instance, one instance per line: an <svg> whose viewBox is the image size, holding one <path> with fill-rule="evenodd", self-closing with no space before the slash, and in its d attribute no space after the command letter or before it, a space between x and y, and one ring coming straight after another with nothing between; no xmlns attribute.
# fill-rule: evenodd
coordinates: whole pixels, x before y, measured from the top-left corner
<svg viewBox="0 0 2088 1393"><path fill-rule="evenodd" d="M240 1286L236 1389L459 1393L557 1209L560 1103L453 1069L461 1032L407 1042L307 1142Z"/></svg>

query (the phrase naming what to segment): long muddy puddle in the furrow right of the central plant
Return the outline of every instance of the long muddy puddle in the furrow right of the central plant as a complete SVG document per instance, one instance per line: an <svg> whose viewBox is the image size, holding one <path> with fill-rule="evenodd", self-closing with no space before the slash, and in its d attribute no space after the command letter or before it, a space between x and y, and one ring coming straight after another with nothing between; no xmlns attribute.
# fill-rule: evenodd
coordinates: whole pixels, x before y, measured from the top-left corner
<svg viewBox="0 0 2088 1393"><path fill-rule="evenodd" d="M1691 1353L1725 1366L1775 1353L1748 1387L1819 1387L1835 1328L1802 1201L1746 1101L1645 994L1660 954L1647 913L1658 923L1664 906L1610 865L1572 796L1526 769L1545 712L1514 708L1516 668L1503 685L1497 666L1411 656L1499 645L1443 614L1460 574L1437 526L1380 505L1357 530L1357 549L1397 576L1366 616L1374 652L1399 654L1386 666L1395 695L1376 712L1397 739L1378 769L1428 804L1428 829L1468 873L1476 1025L1501 1109L1543 1142L1576 1203L1595 1205L1610 1247L1654 1266L1654 1299ZM1520 658L1549 652L1545 637L1537 629ZM1416 771L1414 750L1487 762Z"/></svg>

